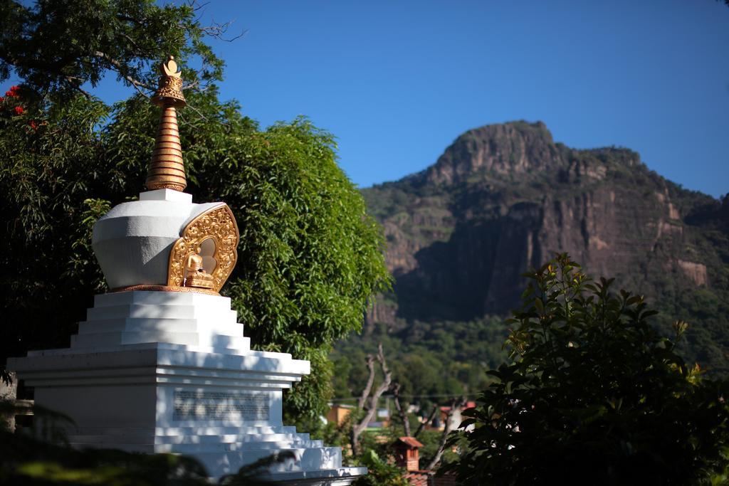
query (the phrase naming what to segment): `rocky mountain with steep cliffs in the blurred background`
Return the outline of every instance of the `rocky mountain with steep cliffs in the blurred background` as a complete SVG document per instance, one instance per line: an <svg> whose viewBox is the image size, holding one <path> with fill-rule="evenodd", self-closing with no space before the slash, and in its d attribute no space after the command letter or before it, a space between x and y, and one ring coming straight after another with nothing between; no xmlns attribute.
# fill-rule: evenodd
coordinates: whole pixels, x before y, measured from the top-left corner
<svg viewBox="0 0 729 486"><path fill-rule="evenodd" d="M454 323L494 326L484 320L517 307L521 273L566 251L588 274L646 295L658 324L688 321L687 358L729 370L729 197L682 189L630 149L571 149L542 122L488 125L426 170L362 193L386 233L394 292L356 339L433 350L432 333Z"/></svg>

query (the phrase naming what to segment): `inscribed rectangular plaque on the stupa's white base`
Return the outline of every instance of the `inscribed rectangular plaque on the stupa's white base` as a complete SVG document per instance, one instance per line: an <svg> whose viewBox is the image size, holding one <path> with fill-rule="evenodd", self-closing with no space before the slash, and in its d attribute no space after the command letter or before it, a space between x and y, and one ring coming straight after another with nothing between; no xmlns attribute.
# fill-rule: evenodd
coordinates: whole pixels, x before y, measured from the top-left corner
<svg viewBox="0 0 729 486"><path fill-rule="evenodd" d="M268 420L268 395L256 392L175 390L172 420Z"/></svg>

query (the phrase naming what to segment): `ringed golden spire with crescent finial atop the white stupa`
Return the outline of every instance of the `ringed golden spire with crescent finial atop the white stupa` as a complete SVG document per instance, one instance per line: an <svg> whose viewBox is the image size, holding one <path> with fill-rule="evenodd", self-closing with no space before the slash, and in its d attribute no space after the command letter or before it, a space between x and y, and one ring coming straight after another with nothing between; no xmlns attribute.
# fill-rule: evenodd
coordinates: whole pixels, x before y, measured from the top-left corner
<svg viewBox="0 0 729 486"><path fill-rule="evenodd" d="M155 189L183 191L187 187L187 180L184 177L176 109L184 108L187 102L182 95L182 77L172 56L162 64L161 71L160 86L152 97L152 103L162 107L162 116L157 126L155 150L149 162L145 185L150 191Z"/></svg>

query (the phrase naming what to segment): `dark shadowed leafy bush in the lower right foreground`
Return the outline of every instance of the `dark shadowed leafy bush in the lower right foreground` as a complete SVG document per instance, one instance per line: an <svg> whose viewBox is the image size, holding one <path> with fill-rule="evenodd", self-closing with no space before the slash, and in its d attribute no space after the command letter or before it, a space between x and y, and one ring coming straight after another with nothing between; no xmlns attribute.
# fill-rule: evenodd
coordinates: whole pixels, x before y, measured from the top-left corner
<svg viewBox="0 0 729 486"><path fill-rule="evenodd" d="M526 273L507 321L510 362L467 411L459 481L693 484L726 481L729 387L702 380L650 324L641 296L613 294L561 254ZM723 478L723 479L722 479Z"/></svg>

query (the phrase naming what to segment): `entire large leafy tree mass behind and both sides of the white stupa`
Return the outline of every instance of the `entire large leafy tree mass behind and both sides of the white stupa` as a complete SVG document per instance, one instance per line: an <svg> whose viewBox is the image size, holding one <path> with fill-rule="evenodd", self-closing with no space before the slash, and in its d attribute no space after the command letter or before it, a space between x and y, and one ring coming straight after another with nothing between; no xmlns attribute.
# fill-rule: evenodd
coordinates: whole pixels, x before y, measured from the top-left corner
<svg viewBox="0 0 729 486"><path fill-rule="evenodd" d="M25 79L0 100L0 227L8 242L0 256L8 275L2 307L10 323L0 329L3 362L28 349L68 345L93 294L105 290L91 228L142 189L159 117L144 94L106 106L71 89L73 82L34 71L36 42L17 36L80 46L59 66L92 83L109 65L91 62L89 52L99 48L98 36L108 38L107 51L126 66L112 63L112 71L125 82L127 75L149 80L154 75L145 66L164 55L137 41L147 35L144 26L168 26L174 18L163 48L181 63L193 56L218 62L191 7L88 1L71 12L65 3L3 7L20 13L3 23L0 59ZM93 26L93 39L83 29L61 28L71 21ZM132 41L114 40L125 36ZM206 72L183 71L194 85L180 111L187 191L198 202L223 200L235 213L238 265L222 293L257 348L311 360L312 374L287 394L285 406L289 420L316 424L330 394L332 343L361 328L367 300L389 285L381 230L338 168L329 133L305 118L261 130L237 103L219 101L214 80L222 71ZM205 89L195 85L205 80Z"/></svg>

